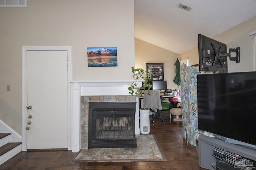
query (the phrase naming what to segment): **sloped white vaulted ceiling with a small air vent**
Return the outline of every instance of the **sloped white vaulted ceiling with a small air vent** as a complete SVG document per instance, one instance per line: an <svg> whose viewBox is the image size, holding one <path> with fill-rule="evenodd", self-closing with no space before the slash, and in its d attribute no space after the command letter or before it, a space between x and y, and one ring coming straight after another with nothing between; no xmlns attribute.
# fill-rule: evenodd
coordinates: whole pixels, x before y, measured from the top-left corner
<svg viewBox="0 0 256 170"><path fill-rule="evenodd" d="M135 37L177 54L254 16L256 0L134 0Z"/></svg>

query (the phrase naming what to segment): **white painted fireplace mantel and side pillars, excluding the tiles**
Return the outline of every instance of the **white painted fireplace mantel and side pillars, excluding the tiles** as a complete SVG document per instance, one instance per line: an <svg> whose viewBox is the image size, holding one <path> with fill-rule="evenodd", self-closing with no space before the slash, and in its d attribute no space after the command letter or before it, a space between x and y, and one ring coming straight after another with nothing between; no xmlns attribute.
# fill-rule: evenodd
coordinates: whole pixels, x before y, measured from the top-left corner
<svg viewBox="0 0 256 170"><path fill-rule="evenodd" d="M133 81L73 81L72 83L72 152L80 150L80 96L128 96ZM141 86L142 81L137 81ZM135 134L139 129L139 99L136 97Z"/></svg>

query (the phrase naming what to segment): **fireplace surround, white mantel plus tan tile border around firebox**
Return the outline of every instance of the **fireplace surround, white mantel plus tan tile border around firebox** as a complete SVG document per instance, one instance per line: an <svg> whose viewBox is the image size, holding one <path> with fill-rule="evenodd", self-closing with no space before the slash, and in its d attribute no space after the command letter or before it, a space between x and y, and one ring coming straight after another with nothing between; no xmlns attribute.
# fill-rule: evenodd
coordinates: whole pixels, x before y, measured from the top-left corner
<svg viewBox="0 0 256 170"><path fill-rule="evenodd" d="M89 102L136 102L135 134L140 134L138 97L129 94L132 81L72 82L72 152L88 149ZM138 82L138 86L141 82Z"/></svg>

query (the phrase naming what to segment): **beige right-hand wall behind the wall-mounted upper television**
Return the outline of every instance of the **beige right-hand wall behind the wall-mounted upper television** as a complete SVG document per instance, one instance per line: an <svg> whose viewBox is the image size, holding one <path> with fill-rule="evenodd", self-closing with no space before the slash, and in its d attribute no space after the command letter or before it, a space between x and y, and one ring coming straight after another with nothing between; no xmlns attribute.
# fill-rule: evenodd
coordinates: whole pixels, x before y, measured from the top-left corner
<svg viewBox="0 0 256 170"><path fill-rule="evenodd" d="M228 58L228 72L255 71L254 36L250 36L250 33L255 30L256 17L213 37L213 39L226 43L228 49L240 47L240 63L229 61ZM198 64L198 47L182 53L180 57L181 59L189 57L190 65Z"/></svg>

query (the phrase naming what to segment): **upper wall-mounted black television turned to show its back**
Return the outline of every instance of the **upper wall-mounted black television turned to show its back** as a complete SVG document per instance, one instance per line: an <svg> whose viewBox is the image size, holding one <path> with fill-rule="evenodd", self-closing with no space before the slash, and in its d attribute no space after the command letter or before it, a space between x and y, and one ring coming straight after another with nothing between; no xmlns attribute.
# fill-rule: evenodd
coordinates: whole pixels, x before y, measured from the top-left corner
<svg viewBox="0 0 256 170"><path fill-rule="evenodd" d="M228 72L226 44L198 34L198 53L199 71Z"/></svg>

